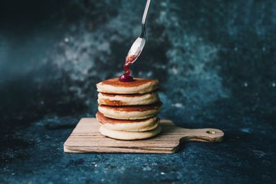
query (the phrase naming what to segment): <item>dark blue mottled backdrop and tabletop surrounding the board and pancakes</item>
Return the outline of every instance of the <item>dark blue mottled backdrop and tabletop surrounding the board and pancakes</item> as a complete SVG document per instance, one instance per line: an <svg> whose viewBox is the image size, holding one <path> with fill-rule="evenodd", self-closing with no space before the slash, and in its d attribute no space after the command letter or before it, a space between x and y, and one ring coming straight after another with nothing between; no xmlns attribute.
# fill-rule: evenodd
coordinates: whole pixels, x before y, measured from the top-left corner
<svg viewBox="0 0 276 184"><path fill-rule="evenodd" d="M144 1L0 1L1 183L273 183L276 2L152 1L133 76L157 78L161 116L217 127L177 154L64 154L118 76Z"/></svg>

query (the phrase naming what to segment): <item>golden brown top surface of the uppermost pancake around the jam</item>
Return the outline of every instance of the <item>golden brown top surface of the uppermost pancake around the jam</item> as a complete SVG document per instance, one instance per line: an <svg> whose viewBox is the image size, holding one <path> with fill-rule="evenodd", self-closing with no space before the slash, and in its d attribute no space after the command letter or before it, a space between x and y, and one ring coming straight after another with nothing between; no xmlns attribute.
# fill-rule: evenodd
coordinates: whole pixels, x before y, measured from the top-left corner
<svg viewBox="0 0 276 184"><path fill-rule="evenodd" d="M113 86L117 86L117 87L126 87L126 88L130 88L130 87L137 87L139 85L143 85L145 83L151 83L151 82L155 82L158 80L157 79L139 79L139 78L134 78L134 81L131 82L121 82L119 81L118 78L113 78L113 79L108 79L106 81L101 81L102 84L106 84L106 85L113 85Z"/></svg>

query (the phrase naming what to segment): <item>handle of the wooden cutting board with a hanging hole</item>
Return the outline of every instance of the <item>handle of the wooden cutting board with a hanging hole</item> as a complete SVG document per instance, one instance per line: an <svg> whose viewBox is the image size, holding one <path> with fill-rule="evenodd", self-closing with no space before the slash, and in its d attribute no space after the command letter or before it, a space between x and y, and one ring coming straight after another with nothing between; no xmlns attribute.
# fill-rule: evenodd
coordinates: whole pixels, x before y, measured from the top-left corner
<svg viewBox="0 0 276 184"><path fill-rule="evenodd" d="M224 132L215 128L182 128L181 132L185 134L181 141L220 142L224 138Z"/></svg>

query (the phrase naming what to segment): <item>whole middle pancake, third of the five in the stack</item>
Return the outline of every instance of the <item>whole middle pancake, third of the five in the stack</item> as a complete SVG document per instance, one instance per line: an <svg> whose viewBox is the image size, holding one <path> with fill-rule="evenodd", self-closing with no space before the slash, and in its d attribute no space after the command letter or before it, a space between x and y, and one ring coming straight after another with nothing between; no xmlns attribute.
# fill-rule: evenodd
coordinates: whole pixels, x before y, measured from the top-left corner
<svg viewBox="0 0 276 184"><path fill-rule="evenodd" d="M160 101L151 105L108 106L99 105L99 112L112 119L147 119L161 110Z"/></svg>

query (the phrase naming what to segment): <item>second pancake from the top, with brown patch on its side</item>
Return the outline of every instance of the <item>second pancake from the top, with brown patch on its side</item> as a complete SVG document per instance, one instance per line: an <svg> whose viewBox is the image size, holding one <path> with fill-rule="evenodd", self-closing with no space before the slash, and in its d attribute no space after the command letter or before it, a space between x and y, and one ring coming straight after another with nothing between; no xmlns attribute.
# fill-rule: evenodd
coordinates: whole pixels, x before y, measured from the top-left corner
<svg viewBox="0 0 276 184"><path fill-rule="evenodd" d="M148 105L159 101L157 92L146 94L106 94L99 92L99 105L121 106L121 105Z"/></svg>

